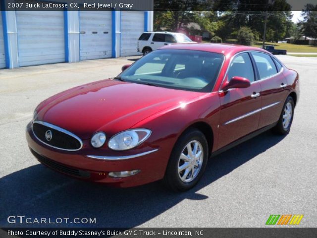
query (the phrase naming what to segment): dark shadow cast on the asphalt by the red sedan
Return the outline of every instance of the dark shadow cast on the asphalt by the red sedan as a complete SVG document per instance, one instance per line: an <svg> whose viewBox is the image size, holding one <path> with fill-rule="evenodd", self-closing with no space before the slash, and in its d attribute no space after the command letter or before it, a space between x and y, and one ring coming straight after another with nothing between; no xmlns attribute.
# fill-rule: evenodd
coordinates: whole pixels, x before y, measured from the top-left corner
<svg viewBox="0 0 317 238"><path fill-rule="evenodd" d="M136 227L184 199L202 200L199 190L227 175L281 141L270 131L211 159L193 189L174 193L154 182L132 188L111 188L83 182L35 165L0 179L0 227ZM8 216L31 218L96 218L96 224L9 224Z"/></svg>

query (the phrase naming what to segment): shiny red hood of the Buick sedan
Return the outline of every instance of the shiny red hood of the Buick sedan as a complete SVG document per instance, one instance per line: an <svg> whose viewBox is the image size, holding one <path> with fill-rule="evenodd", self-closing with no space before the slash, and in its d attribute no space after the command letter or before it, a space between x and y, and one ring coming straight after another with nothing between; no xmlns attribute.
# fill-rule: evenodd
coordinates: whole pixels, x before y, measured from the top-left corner
<svg viewBox="0 0 317 238"><path fill-rule="evenodd" d="M201 93L102 80L61 92L43 101L35 120L62 127L82 139L94 132L111 135Z"/></svg>

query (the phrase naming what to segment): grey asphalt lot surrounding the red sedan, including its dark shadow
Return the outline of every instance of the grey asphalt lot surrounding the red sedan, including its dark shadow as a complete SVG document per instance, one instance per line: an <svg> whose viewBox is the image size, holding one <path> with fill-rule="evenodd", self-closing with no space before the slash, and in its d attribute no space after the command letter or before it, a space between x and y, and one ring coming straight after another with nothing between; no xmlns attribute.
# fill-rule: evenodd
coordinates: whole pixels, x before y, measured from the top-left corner
<svg viewBox="0 0 317 238"><path fill-rule="evenodd" d="M303 214L300 227L317 227L317 58L279 56L300 74L291 132L267 131L215 157L185 193L160 182L109 188L40 165L25 140L35 107L62 90L116 76L135 58L0 70L0 227L19 226L7 223L10 215L96 218L77 225L89 227L264 227L270 214Z"/></svg>

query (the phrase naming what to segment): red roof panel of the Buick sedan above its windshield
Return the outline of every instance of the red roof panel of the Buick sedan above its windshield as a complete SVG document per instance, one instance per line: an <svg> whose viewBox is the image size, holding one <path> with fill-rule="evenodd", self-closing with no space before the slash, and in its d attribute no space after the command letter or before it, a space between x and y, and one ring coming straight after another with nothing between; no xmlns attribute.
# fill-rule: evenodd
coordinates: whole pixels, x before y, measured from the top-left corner
<svg viewBox="0 0 317 238"><path fill-rule="evenodd" d="M217 44L217 43L186 43L186 44L172 44L164 46L159 49L177 49L177 50L194 50L219 53L223 55L235 54L241 51L267 51L250 46L234 45L234 44Z"/></svg>

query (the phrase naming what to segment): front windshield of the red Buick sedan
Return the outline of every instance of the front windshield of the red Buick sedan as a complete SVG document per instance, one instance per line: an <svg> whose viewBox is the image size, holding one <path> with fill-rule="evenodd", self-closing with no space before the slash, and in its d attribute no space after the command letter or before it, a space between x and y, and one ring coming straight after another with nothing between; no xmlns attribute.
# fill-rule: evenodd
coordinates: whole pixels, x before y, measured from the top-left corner
<svg viewBox="0 0 317 238"><path fill-rule="evenodd" d="M224 56L192 50L157 50L123 71L123 81L211 92Z"/></svg>

